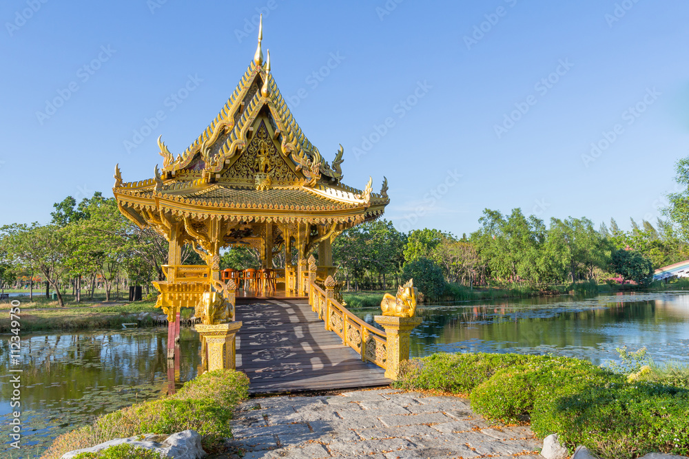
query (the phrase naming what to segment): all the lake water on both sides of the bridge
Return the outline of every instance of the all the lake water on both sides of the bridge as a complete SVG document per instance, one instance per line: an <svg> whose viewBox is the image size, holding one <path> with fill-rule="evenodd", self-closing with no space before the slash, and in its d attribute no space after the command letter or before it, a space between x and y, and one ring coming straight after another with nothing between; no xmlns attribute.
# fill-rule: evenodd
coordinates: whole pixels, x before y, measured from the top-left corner
<svg viewBox="0 0 689 459"><path fill-rule="evenodd" d="M380 310L356 311L373 323ZM566 295L425 306L411 356L433 352L521 352L575 356L600 364L615 348L646 346L657 361L689 363L689 292ZM2 457L37 457L56 435L98 414L167 392L167 329L25 334L21 365L10 365L8 335L0 341L0 423L11 420L10 368L21 373L21 451L3 438ZM181 330L180 380L196 376L200 343ZM9 455L12 453L12 456Z"/></svg>

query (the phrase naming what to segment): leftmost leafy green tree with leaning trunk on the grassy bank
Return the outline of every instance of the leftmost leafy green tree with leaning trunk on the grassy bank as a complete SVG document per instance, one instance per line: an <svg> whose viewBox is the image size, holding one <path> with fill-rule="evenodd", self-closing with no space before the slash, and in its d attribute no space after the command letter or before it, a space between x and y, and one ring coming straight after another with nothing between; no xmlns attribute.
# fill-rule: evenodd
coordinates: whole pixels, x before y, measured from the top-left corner
<svg viewBox="0 0 689 459"><path fill-rule="evenodd" d="M0 234L1 248L12 264L39 270L56 291L59 305L64 306L59 281L68 272L66 261L74 251L64 228L37 223L11 224L0 228Z"/></svg>

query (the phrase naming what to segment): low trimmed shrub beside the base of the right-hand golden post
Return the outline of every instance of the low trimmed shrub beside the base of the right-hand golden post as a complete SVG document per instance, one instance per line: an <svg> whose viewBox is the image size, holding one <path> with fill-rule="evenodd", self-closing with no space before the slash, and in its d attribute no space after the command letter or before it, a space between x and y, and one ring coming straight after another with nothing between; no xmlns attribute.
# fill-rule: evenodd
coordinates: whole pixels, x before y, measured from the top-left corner
<svg viewBox="0 0 689 459"><path fill-rule="evenodd" d="M395 387L469 394L497 370L521 365L535 356L520 354L438 353L403 362Z"/></svg>

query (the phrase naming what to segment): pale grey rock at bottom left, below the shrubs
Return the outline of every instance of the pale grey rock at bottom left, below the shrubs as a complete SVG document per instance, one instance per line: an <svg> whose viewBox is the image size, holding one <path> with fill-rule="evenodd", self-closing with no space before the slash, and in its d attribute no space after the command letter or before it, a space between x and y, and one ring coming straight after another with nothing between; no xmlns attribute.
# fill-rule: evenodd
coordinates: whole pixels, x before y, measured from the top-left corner
<svg viewBox="0 0 689 459"><path fill-rule="evenodd" d="M115 440L110 440L94 447L69 451L64 453L61 459L71 459L79 453L94 453L107 447L123 444L144 449L152 449L153 451L162 453L166 458L198 459L206 456L206 452L201 448L201 436L197 434L196 431L185 430L170 436L146 434L143 436L143 439L141 435L130 438L116 438Z"/></svg>

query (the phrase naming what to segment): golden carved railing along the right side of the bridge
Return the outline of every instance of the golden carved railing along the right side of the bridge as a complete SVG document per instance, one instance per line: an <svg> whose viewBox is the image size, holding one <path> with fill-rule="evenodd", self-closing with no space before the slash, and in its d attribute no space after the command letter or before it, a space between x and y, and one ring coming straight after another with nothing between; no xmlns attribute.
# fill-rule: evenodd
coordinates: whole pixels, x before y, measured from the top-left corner
<svg viewBox="0 0 689 459"><path fill-rule="evenodd" d="M318 318L325 321L325 329L342 338L342 345L356 350L361 360L373 362L387 369L387 334L369 325L342 306L334 297L334 287L326 291L316 282L309 282L309 304Z"/></svg>

